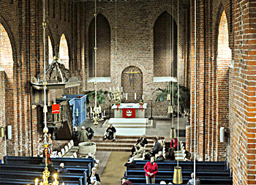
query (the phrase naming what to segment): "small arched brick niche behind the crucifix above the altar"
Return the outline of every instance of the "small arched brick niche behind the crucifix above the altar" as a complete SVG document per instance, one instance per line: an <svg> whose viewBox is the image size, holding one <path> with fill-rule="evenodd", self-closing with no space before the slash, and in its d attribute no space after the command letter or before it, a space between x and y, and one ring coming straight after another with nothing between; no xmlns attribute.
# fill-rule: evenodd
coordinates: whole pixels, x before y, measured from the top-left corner
<svg viewBox="0 0 256 185"><path fill-rule="evenodd" d="M139 72L132 75L126 74L124 72ZM132 81L132 83L131 83ZM140 99L142 99L143 95L143 72L135 66L129 66L126 67L121 72L121 86L123 87L124 93L127 93L127 100L126 102L136 103ZM135 99L135 93L136 93L136 99Z"/></svg>

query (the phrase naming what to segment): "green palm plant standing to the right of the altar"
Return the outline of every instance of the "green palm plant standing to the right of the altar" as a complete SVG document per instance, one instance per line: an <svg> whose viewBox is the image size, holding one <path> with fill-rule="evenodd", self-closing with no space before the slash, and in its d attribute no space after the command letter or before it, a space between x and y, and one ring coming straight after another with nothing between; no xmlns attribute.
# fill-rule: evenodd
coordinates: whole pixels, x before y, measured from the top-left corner
<svg viewBox="0 0 256 185"><path fill-rule="evenodd" d="M179 105L178 113L182 115L189 115L190 113L190 90L185 86L178 86L177 83L170 83L170 88L157 88L153 91L154 94L156 91L160 91L157 93L156 102L163 102L167 99L167 94L170 94L170 102L173 99L173 105Z"/></svg>

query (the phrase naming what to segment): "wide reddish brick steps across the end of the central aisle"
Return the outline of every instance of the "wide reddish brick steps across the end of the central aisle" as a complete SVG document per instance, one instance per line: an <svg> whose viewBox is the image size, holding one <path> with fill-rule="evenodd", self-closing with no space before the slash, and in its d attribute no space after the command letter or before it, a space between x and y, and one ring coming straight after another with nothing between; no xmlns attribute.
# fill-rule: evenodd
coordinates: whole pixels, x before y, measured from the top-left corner
<svg viewBox="0 0 256 185"><path fill-rule="evenodd" d="M96 143L97 151L131 151L132 146L137 143L137 140L141 135L124 136L117 135L116 140L102 140L103 135L94 135L91 142ZM148 144L146 145L146 151L149 151L153 146L153 138L157 136L147 137ZM162 137L163 138L163 137Z"/></svg>

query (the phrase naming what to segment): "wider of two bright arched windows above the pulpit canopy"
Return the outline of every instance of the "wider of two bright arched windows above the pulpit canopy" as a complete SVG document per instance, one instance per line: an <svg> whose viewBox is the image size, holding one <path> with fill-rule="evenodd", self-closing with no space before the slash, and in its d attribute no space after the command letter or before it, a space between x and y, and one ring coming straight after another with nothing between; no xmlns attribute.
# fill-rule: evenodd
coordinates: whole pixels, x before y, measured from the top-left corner
<svg viewBox="0 0 256 185"><path fill-rule="evenodd" d="M62 34L61 41L59 42L59 58L64 63L65 67L69 69L69 48L64 34Z"/></svg>

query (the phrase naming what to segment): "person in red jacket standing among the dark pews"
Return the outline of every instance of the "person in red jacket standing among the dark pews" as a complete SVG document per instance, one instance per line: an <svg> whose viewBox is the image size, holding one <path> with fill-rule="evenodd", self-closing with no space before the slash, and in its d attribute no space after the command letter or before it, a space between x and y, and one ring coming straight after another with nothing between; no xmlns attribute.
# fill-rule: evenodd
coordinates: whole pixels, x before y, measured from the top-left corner
<svg viewBox="0 0 256 185"><path fill-rule="evenodd" d="M150 162L146 163L144 170L146 172L146 184L155 184L155 175L158 172L158 166L154 156L151 156Z"/></svg>

